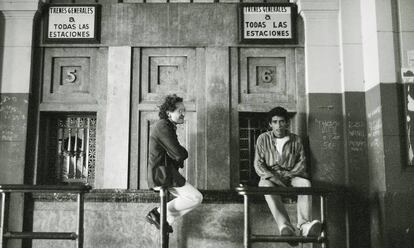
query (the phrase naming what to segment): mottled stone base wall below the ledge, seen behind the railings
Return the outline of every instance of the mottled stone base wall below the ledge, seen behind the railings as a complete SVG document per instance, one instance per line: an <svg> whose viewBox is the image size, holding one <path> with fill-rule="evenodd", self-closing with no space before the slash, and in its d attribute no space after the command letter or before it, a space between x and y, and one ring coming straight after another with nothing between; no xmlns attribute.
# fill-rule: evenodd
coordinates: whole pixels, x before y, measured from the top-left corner
<svg viewBox="0 0 414 248"><path fill-rule="evenodd" d="M159 247L159 231L145 216L156 203L87 202L85 204L85 248ZM250 206L251 229L256 234L275 235L277 226L267 205ZM172 223L171 248L243 247L243 204L202 204ZM287 205L292 224L296 225L296 206ZM35 232L70 232L76 228L75 202L37 201L33 209ZM33 248L73 248L67 240L33 240ZM255 248L289 248L288 244L255 244ZM311 248L305 245L303 248Z"/></svg>

